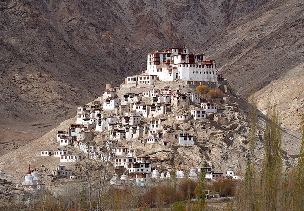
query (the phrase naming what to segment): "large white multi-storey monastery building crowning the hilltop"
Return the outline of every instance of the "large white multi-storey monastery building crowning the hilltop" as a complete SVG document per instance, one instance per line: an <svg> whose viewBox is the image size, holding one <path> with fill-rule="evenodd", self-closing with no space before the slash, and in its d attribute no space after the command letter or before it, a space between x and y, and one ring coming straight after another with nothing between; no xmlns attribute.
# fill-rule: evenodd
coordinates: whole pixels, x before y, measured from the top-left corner
<svg viewBox="0 0 304 211"><path fill-rule="evenodd" d="M189 53L185 47L148 53L147 71L160 81L181 79L187 84L217 84L215 60L205 60L204 54Z"/></svg>

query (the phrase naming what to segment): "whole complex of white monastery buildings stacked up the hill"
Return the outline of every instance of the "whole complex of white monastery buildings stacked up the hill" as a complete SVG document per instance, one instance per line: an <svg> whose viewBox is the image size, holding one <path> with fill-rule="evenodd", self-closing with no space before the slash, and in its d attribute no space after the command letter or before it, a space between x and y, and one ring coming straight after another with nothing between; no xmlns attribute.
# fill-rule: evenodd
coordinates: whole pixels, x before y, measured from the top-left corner
<svg viewBox="0 0 304 211"><path fill-rule="evenodd" d="M185 123L203 127L208 115L223 118L217 103L196 93L198 85L210 89L220 86L214 60L190 53L185 47L148 53L147 69L142 74L128 76L120 87L107 84L102 97L78 107L75 124L58 131L57 147L44 149L41 156L57 159L52 175L66 179L76 179L77 175L64 163L78 164L83 159L109 162L114 171L111 185L146 186L153 179L171 179L173 175L197 180L201 171L207 180L224 179L224 173L208 165L194 167L192 163L189 172L180 167L164 170L157 156L146 154L150 146L160 150L197 146L195 130L184 131L180 126ZM95 141L96 136L103 137L101 142ZM29 174L24 186L33 189L38 182ZM233 170L229 178L242 179Z"/></svg>

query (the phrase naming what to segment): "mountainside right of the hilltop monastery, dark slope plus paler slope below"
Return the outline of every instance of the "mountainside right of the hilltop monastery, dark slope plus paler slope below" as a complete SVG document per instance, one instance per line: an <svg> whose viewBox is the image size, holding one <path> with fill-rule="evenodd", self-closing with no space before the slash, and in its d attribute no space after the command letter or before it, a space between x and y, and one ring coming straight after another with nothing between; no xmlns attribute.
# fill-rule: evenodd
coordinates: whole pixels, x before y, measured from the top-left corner
<svg viewBox="0 0 304 211"><path fill-rule="evenodd" d="M275 0L242 16L202 50L242 96L256 93L258 108L277 104L287 130L303 114L304 2Z"/></svg>

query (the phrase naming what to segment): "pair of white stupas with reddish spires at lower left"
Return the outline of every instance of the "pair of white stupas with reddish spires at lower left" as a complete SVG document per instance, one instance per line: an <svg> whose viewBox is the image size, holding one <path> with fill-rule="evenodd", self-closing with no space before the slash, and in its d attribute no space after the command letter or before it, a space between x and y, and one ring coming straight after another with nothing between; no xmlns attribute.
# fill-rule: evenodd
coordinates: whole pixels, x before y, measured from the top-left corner
<svg viewBox="0 0 304 211"><path fill-rule="evenodd" d="M30 191L45 189L45 184L41 182L41 179L38 176L38 172L36 171L36 167L34 167L34 171L31 173L31 167L29 165L28 172L25 176L25 181L22 182L22 186L24 190Z"/></svg>

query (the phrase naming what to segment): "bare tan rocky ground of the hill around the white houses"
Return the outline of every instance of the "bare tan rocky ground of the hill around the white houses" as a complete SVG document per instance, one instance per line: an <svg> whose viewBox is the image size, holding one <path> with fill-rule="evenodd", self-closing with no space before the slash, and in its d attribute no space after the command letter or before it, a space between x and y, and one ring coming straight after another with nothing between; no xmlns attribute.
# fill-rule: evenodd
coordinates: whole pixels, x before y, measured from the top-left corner
<svg viewBox="0 0 304 211"><path fill-rule="evenodd" d="M160 82L157 81L154 85L155 89L162 88L164 85L170 85L171 88L182 88L183 93L193 92L195 87L183 85L178 81ZM118 96L129 91L132 93L142 93L145 89L138 88L123 88L121 87ZM171 111L159 116L165 118L165 125L173 127L175 123L176 128L174 133L190 133L194 136L195 144L193 146L181 146L178 140L174 137L164 134L165 138L171 140L170 147L163 146L162 142L153 144L141 143L142 139L120 140L119 145L124 147L132 147L133 149L141 149L141 155L147 155L152 158L152 167L156 165L161 166L162 171L175 171L178 167L183 168L186 173L189 173L191 163L195 166L201 166L207 163L212 166L215 171L226 172L228 169L238 170L239 173L245 172L247 160L250 158L249 144L247 136L249 132L249 119L247 102L241 97L236 96L235 90L231 93L227 91L225 99L209 99L209 101L216 102L218 105L218 112L216 114L207 114L206 119L194 121L177 121L175 116L189 113L191 109L199 108L199 104L192 104L190 106L172 106ZM100 100L100 97L97 101ZM76 114L76 110L74 111ZM44 165L40 171L43 170L41 177L49 182L52 177L51 171L59 164L59 158L48 156L42 157L41 151L54 150L59 146L57 142L57 131L67 130L70 124L75 124L76 118L71 118L62 122L57 128L48 132L41 138L19 147L13 152L7 153L1 157L0 165L5 174L14 175L15 183L20 183L23 180L24 173L27 170L28 163L40 166ZM143 118L142 124L149 123L149 119ZM259 127L257 129L256 142L256 164L257 168L261 167L264 156L264 149L262 143L264 116L259 114ZM109 140L111 131L98 132L94 131L93 142L97 146L101 146L102 140ZM146 137L144 135L144 137ZM285 166L294 166L296 160L295 154L299 148L300 142L295 141L288 132L283 131L283 159ZM154 159L155 158L155 159ZM79 163L76 163L77 165ZM75 165L72 163L66 164L69 168ZM111 169L114 170L114 161L111 162ZM73 168L74 169L74 168ZM113 172L113 171L112 171ZM110 177L111 178L111 177Z"/></svg>

